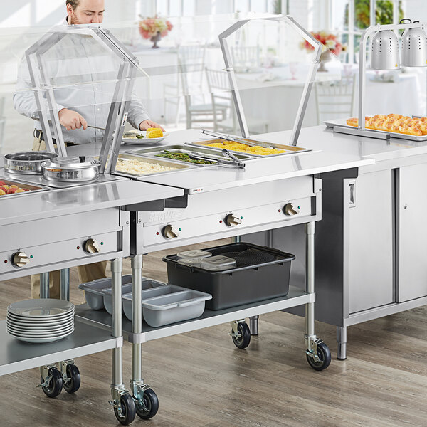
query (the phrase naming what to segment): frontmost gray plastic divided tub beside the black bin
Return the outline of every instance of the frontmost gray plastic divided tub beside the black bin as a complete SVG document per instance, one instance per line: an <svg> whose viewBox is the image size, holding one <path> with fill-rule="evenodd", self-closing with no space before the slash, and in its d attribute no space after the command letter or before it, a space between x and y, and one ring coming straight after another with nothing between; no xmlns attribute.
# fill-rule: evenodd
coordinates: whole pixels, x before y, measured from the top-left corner
<svg viewBox="0 0 427 427"><path fill-rule="evenodd" d="M142 301L145 322L151 327L194 319L204 312L205 301L212 295L198 290L184 290Z"/></svg>

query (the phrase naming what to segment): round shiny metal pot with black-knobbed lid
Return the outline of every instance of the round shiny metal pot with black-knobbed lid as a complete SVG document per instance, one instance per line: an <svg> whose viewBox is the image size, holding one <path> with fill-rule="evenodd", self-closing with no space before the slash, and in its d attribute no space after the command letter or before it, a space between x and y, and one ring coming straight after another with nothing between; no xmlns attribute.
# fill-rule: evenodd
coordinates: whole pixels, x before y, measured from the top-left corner
<svg viewBox="0 0 427 427"><path fill-rule="evenodd" d="M41 164L43 178L48 181L95 181L100 174L100 162L92 157L56 157Z"/></svg>

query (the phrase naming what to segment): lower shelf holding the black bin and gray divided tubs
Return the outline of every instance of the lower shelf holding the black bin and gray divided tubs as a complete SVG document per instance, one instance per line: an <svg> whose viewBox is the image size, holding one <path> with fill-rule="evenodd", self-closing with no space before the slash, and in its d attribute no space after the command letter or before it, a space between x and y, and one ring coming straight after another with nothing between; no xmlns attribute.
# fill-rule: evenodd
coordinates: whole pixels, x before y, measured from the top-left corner
<svg viewBox="0 0 427 427"><path fill-rule="evenodd" d="M290 286L289 293L286 297L253 302L252 304L239 305L238 307L231 307L225 310L205 310L203 315L197 319L186 320L184 322L177 322L172 325L161 327L150 327L145 322L142 322L142 334L132 334L132 322L123 317L123 336L130 342L147 342L152 339L183 334L184 332L221 325L221 323L233 322L233 320L240 320L245 317L284 310L314 301L315 294L307 294L298 288ZM111 316L105 310L92 310L88 305L84 304L75 307L75 315L82 322L88 322L88 324L94 323L97 327L103 327L105 330L111 329Z"/></svg>

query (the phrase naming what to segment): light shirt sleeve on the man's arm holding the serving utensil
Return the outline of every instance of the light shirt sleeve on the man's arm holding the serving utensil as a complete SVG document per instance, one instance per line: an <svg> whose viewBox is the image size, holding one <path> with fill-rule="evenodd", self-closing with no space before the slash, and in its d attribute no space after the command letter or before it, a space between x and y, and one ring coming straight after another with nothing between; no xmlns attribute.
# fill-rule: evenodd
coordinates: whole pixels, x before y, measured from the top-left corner
<svg viewBox="0 0 427 427"><path fill-rule="evenodd" d="M14 108L19 114L26 117L39 117L36 96L32 90L33 85L31 83L30 72L28 70L28 64L26 58L21 60L21 64L18 69L18 78L16 80L16 89L14 92ZM43 104L45 110L48 110L48 101L43 98ZM63 108L63 105L57 103L56 111L59 112Z"/></svg>

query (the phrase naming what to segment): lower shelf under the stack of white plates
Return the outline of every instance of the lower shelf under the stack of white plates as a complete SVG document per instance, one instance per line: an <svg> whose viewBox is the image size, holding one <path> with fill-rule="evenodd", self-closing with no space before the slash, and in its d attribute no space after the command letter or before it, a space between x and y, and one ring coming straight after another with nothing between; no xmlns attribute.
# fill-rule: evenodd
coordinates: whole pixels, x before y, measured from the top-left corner
<svg viewBox="0 0 427 427"><path fill-rule="evenodd" d="M121 346L122 339L113 338L111 330L102 330L76 319L75 330L68 337L57 342L30 344L9 335L6 331L6 320L2 320L0 342L0 375L6 375L114 349Z"/></svg>

